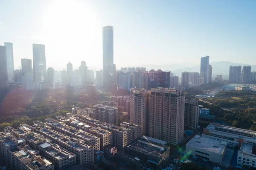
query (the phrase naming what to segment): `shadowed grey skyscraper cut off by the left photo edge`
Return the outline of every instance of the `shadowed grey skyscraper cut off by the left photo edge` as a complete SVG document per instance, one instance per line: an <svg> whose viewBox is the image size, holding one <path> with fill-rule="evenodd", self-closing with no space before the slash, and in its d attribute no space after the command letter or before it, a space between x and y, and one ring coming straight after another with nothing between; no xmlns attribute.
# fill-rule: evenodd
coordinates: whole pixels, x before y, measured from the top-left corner
<svg viewBox="0 0 256 170"><path fill-rule="evenodd" d="M6 46L0 46L0 89L8 87Z"/></svg>

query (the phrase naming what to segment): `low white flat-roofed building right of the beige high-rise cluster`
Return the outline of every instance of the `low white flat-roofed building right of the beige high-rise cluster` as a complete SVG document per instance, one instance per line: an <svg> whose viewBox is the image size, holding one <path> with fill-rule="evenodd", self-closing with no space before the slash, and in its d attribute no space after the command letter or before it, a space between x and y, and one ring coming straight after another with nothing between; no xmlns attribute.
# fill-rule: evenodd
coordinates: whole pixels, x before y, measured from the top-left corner
<svg viewBox="0 0 256 170"><path fill-rule="evenodd" d="M195 135L186 144L186 153L220 164L226 148L226 141Z"/></svg>

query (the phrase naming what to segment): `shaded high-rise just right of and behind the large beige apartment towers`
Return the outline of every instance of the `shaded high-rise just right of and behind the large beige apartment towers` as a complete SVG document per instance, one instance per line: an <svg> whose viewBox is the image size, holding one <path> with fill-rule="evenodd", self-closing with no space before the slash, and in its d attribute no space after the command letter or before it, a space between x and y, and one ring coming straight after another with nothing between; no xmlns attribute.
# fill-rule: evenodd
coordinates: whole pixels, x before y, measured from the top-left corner
<svg viewBox="0 0 256 170"><path fill-rule="evenodd" d="M196 100L185 100L184 126L198 129L199 105Z"/></svg>

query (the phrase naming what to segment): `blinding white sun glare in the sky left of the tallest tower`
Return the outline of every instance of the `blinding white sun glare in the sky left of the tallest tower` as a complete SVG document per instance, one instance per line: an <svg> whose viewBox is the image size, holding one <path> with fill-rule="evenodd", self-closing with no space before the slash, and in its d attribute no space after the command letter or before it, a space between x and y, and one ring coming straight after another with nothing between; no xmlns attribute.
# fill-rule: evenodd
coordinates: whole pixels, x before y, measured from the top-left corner
<svg viewBox="0 0 256 170"><path fill-rule="evenodd" d="M48 55L61 55L64 63L72 56L74 61L71 62L78 65L81 59L77 58L79 61L76 61L76 56L81 58L81 54L95 51L93 48L99 41L97 34L101 26L95 11L86 1L55 1L49 5L43 17L41 31L48 44Z"/></svg>

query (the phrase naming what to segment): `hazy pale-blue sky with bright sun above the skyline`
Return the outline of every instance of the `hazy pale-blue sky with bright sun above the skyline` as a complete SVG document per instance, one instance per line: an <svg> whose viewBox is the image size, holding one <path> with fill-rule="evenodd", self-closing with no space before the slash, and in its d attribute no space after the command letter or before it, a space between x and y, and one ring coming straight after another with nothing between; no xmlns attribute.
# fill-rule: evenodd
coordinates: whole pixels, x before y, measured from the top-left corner
<svg viewBox="0 0 256 170"><path fill-rule="evenodd" d="M256 0L0 0L0 45L15 68L45 44L47 67L102 69L102 26L114 27L116 68L234 61L256 65Z"/></svg>

